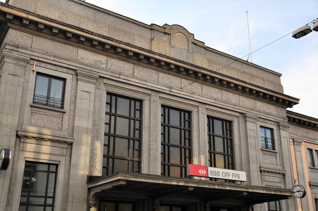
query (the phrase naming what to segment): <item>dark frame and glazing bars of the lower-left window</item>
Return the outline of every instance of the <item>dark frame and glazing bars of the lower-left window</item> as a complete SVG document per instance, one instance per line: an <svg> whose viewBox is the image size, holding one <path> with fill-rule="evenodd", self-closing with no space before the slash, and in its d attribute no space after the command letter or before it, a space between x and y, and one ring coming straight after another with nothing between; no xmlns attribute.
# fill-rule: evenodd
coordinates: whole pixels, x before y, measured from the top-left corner
<svg viewBox="0 0 318 211"><path fill-rule="evenodd" d="M30 169L26 169L25 166L26 166L26 163L31 163L31 168ZM47 165L48 166L48 170L34 170L33 169L33 164L44 164L44 165ZM50 170L50 167L51 166L55 166L55 171L51 171ZM55 163L45 163L45 162L37 162L37 161L29 161L29 160L25 160L24 162L24 170L23 170L23 177L24 177L24 173L25 171L29 171L30 172L30 180L31 180L31 174L32 172L44 172L44 173L47 173L47 177L46 177L46 187L45 187L45 195L44 196L37 196L37 195L31 195L31 185L28 187L28 194L27 195L23 195L22 194L22 189L23 189L23 181L22 181L22 187L21 187L21 192L20 192L20 201L19 201L19 207L18 209L20 209L20 206L26 206L26 210L29 209L29 207L43 207L43 210L46 210L47 207L51 207L51 211L54 210L54 205L55 205L55 194L56 194L56 190L57 190L57 178L58 178L58 167L59 165L58 164L55 164ZM47 196L47 191L48 191L48 184L49 184L49 176L50 176L50 173L54 173L55 174L55 177L54 177L54 190L53 190L53 195L52 196ZM21 198L22 197L26 197L27 198L27 202L22 202L21 203ZM43 206L41 204L29 204L29 199L30 198L44 198L44 204ZM52 199L52 205L49 205L47 206L46 202L47 202L47 199Z"/></svg>

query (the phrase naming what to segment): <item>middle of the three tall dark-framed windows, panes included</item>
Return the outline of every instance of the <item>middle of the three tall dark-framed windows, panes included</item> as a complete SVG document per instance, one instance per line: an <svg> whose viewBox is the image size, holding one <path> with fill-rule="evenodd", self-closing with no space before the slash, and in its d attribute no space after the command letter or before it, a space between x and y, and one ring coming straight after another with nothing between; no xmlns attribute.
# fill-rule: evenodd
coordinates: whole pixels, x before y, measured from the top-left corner
<svg viewBox="0 0 318 211"><path fill-rule="evenodd" d="M191 112L161 107L161 175L187 177L191 163Z"/></svg>

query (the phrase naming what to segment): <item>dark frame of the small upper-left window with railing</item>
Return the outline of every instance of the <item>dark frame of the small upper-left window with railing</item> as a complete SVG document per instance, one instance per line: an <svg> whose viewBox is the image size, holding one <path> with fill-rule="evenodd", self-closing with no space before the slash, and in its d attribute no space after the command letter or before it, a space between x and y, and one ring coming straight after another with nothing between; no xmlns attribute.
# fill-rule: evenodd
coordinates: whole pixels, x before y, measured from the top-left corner
<svg viewBox="0 0 318 211"><path fill-rule="evenodd" d="M37 103L36 101L34 101L34 99L35 99L35 89L36 89L36 85L37 85L38 76L49 78L48 83L47 83L47 93L46 93L46 103L45 104L44 103ZM57 80L63 81L62 96L61 96L61 99L59 99L59 100L61 100L61 106L52 106L49 103L50 99L53 98L53 97L50 96L51 88L52 88L52 79L57 79ZM35 75L32 103L37 104L37 105L43 105L43 106L63 109L64 108L64 103L65 103L65 87L66 87L66 78L61 78L61 77L45 74L45 73L42 73L42 72L37 72L36 75ZM54 98L54 99L58 99L58 98Z"/></svg>

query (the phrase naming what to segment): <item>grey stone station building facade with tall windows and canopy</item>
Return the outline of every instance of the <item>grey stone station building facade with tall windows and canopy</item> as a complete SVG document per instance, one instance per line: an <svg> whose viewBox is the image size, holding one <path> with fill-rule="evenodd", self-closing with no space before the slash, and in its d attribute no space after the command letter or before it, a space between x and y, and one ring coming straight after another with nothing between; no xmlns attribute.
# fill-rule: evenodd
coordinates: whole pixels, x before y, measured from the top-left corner
<svg viewBox="0 0 318 211"><path fill-rule="evenodd" d="M81 0L7 0L0 22L0 211L316 208L318 120L286 113L280 73Z"/></svg>

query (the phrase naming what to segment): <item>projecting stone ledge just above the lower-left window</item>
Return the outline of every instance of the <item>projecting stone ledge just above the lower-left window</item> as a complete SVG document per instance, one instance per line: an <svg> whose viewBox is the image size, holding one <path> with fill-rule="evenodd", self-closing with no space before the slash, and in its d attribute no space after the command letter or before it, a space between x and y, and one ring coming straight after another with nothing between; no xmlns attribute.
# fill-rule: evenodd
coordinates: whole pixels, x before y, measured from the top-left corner
<svg viewBox="0 0 318 211"><path fill-rule="evenodd" d="M65 143L65 144L73 143L73 138L71 137L47 135L43 133L29 132L29 131L23 131L23 130L18 130L17 136L20 138L42 140L42 141L52 141L52 142L59 142L59 143Z"/></svg>

